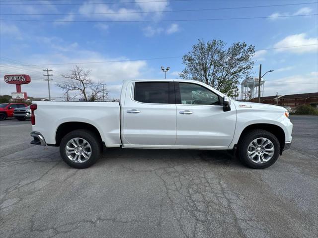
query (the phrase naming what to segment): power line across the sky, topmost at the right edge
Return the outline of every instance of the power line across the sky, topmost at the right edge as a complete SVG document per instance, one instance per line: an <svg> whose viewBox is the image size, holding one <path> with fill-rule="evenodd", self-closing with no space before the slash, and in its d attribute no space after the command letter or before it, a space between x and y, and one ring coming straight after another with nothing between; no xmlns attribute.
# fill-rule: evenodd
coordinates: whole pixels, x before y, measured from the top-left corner
<svg viewBox="0 0 318 238"><path fill-rule="evenodd" d="M164 10L164 11L131 11L131 12L100 12L100 13L1 13L1 15L113 15L113 14L133 14L133 13L162 13L162 12L188 12L188 11L212 11L212 10L228 10L228 9L245 9L245 8L261 8L275 6L290 6L303 4L317 4L318 2L302 2L278 5L259 5L259 6L238 6L238 7L221 7L221 8L204 8L204 9L184 9L184 10Z"/></svg>

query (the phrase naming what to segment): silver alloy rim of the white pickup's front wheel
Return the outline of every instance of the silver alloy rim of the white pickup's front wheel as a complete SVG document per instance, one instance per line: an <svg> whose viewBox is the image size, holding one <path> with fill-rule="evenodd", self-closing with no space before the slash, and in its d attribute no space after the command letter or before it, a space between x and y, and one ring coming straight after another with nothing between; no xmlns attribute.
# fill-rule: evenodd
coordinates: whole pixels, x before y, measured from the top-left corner
<svg viewBox="0 0 318 238"><path fill-rule="evenodd" d="M273 157L274 152L273 142L265 137L252 140L247 147L248 159L256 164L268 162Z"/></svg>

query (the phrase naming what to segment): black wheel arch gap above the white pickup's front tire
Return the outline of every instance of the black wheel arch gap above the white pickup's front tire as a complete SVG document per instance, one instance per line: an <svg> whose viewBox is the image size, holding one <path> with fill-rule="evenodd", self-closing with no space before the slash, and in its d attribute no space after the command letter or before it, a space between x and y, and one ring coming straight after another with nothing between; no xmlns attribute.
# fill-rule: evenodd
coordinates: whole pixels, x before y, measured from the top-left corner
<svg viewBox="0 0 318 238"><path fill-rule="evenodd" d="M280 127L279 125L270 124L270 123L255 123L255 124L250 124L250 125L246 126L242 130L242 132L240 133L238 144L240 143L241 138L243 138L243 136L248 131L251 131L253 129L263 129L263 130L269 131L270 133L272 133L273 135L275 135L277 137L279 144L280 144L281 151L284 149L284 146L285 146L284 129L282 127Z"/></svg>

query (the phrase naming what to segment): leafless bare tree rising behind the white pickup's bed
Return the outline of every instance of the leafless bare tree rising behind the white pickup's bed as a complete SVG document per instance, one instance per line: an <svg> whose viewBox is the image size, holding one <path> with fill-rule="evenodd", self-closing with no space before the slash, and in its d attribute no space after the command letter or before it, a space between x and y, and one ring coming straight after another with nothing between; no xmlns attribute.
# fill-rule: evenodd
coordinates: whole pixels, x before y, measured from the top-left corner
<svg viewBox="0 0 318 238"><path fill-rule="evenodd" d="M85 101L96 101L102 97L102 83L93 83L89 74L91 70L84 70L76 65L70 73L61 74L66 81L57 83L64 90L64 95L69 97L70 92L75 92L74 97L82 96Z"/></svg>

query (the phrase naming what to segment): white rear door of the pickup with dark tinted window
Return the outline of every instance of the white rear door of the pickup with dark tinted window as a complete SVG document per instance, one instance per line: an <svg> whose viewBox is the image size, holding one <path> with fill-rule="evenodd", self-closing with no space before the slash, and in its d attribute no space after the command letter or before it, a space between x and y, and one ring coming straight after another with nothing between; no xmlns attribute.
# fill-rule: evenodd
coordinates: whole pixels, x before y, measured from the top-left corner
<svg viewBox="0 0 318 238"><path fill-rule="evenodd" d="M137 81L126 92L123 108L125 146L170 146L176 140L174 84L169 81Z"/></svg>

